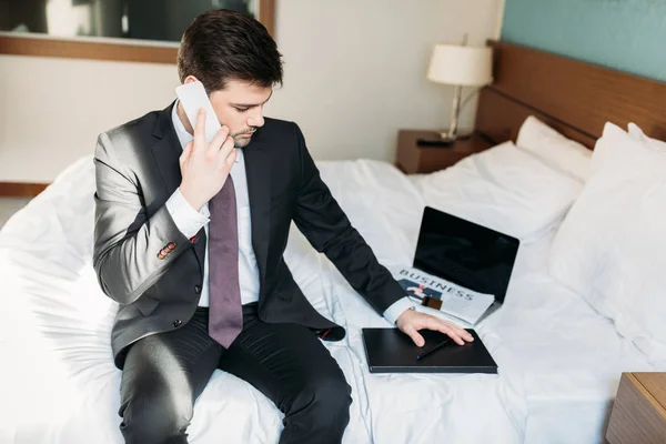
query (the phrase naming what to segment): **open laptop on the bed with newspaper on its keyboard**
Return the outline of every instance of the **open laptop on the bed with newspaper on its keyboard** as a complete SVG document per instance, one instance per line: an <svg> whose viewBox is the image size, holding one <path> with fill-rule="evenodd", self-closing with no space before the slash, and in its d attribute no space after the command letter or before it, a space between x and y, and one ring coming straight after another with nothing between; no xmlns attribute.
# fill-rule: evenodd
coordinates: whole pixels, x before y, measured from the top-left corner
<svg viewBox="0 0 666 444"><path fill-rule="evenodd" d="M412 297L417 285L422 305L475 325L504 303L519 244L508 234L426 206L413 269L394 278Z"/></svg>

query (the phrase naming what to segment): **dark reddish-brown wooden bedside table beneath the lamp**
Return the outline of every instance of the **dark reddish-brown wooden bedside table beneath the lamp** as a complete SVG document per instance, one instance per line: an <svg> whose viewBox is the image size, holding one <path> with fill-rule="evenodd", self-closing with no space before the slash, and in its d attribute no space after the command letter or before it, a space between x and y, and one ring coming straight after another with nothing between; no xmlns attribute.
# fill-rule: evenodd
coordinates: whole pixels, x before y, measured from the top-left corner
<svg viewBox="0 0 666 444"><path fill-rule="evenodd" d="M438 139L440 133L424 130L400 130L397 133L396 167L404 173L431 173L451 167L470 154L493 147L480 134L458 139L448 147L418 147L417 139Z"/></svg>

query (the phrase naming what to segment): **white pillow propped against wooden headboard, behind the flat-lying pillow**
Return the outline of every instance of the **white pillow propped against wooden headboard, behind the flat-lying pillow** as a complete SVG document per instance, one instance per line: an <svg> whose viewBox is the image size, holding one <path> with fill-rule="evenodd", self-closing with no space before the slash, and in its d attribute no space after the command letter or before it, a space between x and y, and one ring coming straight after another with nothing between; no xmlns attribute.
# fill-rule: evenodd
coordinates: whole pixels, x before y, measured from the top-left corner
<svg viewBox="0 0 666 444"><path fill-rule="evenodd" d="M523 122L516 145L538 155L555 168L573 174L583 182L589 178L592 151L581 143L565 138L533 115Z"/></svg>

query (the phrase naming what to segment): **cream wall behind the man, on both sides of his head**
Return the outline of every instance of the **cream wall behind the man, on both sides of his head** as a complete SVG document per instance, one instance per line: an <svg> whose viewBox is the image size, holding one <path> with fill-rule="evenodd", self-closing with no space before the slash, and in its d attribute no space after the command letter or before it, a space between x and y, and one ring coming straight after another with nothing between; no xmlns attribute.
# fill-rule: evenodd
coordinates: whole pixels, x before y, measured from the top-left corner
<svg viewBox="0 0 666 444"><path fill-rule="evenodd" d="M452 90L425 79L432 46L465 32L483 44L501 12L501 0L278 0L285 78L266 114L296 121L315 159L393 161L397 129L448 119ZM176 84L175 65L0 56L0 181L51 181Z"/></svg>

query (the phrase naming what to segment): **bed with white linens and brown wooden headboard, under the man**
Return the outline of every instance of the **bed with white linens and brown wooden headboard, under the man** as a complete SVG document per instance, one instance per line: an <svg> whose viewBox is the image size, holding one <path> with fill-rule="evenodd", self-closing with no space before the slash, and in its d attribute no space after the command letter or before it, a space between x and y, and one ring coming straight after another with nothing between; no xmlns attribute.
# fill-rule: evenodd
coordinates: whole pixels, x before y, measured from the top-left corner
<svg viewBox="0 0 666 444"><path fill-rule="evenodd" d="M504 306L476 327L498 363L497 375L369 373L361 327L386 322L296 230L290 236L285 260L295 280L313 306L349 333L339 343L326 343L353 389L345 443L601 443L620 373L665 370L548 273L551 245L584 182L546 173L553 168L548 162L501 144L515 140L531 114L588 147L601 134L589 115L568 120L568 111L553 109L557 100L531 105L521 95L524 85L509 91L506 70L521 77L535 63L555 63L564 88L562 79L573 75L567 70L603 69L494 46L496 82L482 92L477 119L477 128L500 144L494 151L421 176L370 160L317 165L354 226L390 269L411 264L425 205L522 240ZM663 84L636 81L639 91L652 88L652 98L665 94ZM547 79L543 83L547 87ZM579 85L567 88L578 91ZM599 93L598 84L594 88ZM574 103L572 94L562 100ZM624 105L619 119L636 121L655 135L663 121L653 118L652 99L646 101L647 108ZM605 121L604 107L595 110L595 119L597 114ZM528 185L537 179L541 188ZM112 363L109 334L117 306L99 290L91 264L93 192L94 169L84 158L0 231L8 314L0 322L0 356L10 356L0 380L0 443L122 443L120 371ZM199 444L221 438L275 443L281 418L261 393L216 371L195 405L190 438Z"/></svg>

